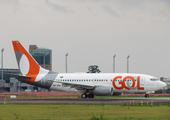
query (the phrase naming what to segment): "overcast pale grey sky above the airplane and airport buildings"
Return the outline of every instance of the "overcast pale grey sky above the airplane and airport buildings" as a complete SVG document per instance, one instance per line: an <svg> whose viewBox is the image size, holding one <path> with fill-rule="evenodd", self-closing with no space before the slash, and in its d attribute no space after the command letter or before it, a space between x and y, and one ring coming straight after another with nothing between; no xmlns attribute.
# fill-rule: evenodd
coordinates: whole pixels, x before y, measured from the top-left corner
<svg viewBox="0 0 170 120"><path fill-rule="evenodd" d="M52 50L52 69L170 77L169 0L0 0L4 68L18 68L12 40Z"/></svg>

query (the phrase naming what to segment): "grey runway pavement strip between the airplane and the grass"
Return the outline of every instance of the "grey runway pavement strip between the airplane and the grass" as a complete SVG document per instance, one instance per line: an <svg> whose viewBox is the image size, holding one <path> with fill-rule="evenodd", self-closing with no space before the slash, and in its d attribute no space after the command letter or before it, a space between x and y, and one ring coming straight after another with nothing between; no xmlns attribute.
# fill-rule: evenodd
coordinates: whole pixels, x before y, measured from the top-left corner
<svg viewBox="0 0 170 120"><path fill-rule="evenodd" d="M170 98L55 98L55 99L0 99L0 103L104 103L104 104L134 104L170 103Z"/></svg>

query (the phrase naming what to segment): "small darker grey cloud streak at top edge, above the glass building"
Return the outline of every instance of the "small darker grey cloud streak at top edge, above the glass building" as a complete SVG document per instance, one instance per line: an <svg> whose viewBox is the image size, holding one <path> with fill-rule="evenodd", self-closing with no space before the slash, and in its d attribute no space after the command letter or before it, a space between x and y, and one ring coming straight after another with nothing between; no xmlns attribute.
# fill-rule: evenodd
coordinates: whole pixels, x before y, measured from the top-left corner
<svg viewBox="0 0 170 120"><path fill-rule="evenodd" d="M46 2L50 7L52 7L53 9L55 9L57 11L68 13L68 9L66 7L60 6L58 4L53 4L53 3L49 2L49 0L46 0Z"/></svg>

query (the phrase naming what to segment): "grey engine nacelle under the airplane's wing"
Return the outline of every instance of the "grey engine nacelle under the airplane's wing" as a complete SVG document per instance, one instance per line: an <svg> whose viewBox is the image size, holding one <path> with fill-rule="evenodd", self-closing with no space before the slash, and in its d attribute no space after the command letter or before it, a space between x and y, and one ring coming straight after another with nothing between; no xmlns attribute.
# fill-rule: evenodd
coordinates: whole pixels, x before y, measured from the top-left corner
<svg viewBox="0 0 170 120"><path fill-rule="evenodd" d="M97 86L93 90L94 95L113 95L113 87Z"/></svg>

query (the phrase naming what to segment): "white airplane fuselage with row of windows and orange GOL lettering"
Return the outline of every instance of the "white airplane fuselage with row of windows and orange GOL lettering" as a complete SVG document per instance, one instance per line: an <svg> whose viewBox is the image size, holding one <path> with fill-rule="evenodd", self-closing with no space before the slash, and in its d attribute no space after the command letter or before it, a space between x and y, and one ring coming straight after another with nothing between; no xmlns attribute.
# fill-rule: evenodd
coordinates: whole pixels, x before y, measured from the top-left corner
<svg viewBox="0 0 170 120"><path fill-rule="evenodd" d="M64 85L63 85L64 84ZM67 86L67 84L69 84ZM66 74L60 73L57 75L55 82L51 85L50 89L58 91L74 91L84 92L77 90L71 85L81 86L108 86L113 87L114 92L152 92L159 90L166 86L166 84L157 78L132 73L73 73Z"/></svg>

